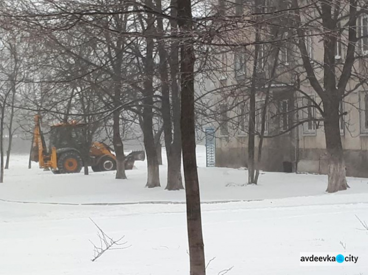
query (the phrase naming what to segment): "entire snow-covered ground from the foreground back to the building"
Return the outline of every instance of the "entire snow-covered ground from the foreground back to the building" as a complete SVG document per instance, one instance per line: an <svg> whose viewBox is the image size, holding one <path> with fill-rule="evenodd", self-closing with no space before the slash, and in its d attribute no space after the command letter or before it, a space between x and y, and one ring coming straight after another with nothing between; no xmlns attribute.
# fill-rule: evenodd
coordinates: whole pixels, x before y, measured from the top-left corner
<svg viewBox="0 0 368 275"><path fill-rule="evenodd" d="M208 275L368 274L368 179L326 194L326 176L263 173L243 186L246 170L206 168L197 148ZM165 154L165 152L163 152ZM184 190L144 188L146 163L127 171L53 175L27 156L12 156L0 184L1 275L188 275ZM93 219L130 245L92 262ZM341 245L342 243L343 245ZM345 248L343 248L343 246ZM351 266L301 267L300 252L359 256ZM213 260L211 260L213 259Z"/></svg>

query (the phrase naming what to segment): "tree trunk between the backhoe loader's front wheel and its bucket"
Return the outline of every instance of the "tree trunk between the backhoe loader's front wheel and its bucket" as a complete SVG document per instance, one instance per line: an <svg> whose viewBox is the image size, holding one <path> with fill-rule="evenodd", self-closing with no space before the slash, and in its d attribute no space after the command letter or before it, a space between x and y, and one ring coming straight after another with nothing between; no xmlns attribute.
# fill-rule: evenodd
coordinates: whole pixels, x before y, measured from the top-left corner
<svg viewBox="0 0 368 275"><path fill-rule="evenodd" d="M115 179L127 179L125 174L125 155L124 155L124 145L120 136L120 112L114 111L113 119L113 138L112 143L114 144L115 156L116 156L116 177Z"/></svg>

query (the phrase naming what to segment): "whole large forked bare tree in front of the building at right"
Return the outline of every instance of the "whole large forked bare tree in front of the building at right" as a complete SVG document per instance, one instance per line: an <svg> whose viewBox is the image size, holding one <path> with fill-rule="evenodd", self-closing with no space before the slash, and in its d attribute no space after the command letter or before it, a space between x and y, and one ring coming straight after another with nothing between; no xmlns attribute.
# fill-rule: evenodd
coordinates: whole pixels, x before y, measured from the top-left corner
<svg viewBox="0 0 368 275"><path fill-rule="evenodd" d="M298 48L303 61L303 68L313 90L321 98L326 148L329 160L327 192L345 190L348 185L345 178L345 163L340 135L339 121L341 117L340 104L344 97L366 82L359 73L357 60L361 52L356 45L361 37L357 35L357 19L362 13L367 13L367 4L360 0L345 1L307 1L309 7L301 9L301 3L292 1L295 10L295 30L300 37ZM359 11L357 8L359 7ZM339 27L341 26L341 27ZM340 32L341 28L346 31ZM344 38L339 38L343 33ZM316 36L321 40L318 46L324 49L323 62L315 62L308 51L308 37ZM346 45L344 64L336 60L338 42ZM323 78L319 79L316 70L323 71ZM357 85L349 89L349 81L356 81Z"/></svg>

